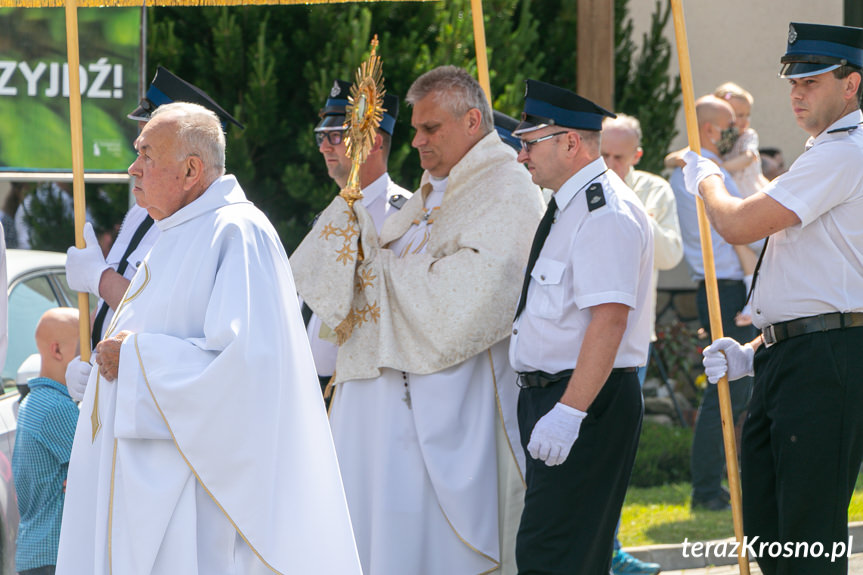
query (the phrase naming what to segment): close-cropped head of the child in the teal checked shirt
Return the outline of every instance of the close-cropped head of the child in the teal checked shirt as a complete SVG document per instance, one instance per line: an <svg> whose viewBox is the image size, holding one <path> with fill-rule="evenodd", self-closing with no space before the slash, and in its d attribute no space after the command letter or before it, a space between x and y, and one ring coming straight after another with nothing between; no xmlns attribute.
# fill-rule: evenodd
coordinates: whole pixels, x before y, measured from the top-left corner
<svg viewBox="0 0 863 575"><path fill-rule="evenodd" d="M36 326L36 347L42 358L41 377L65 385L66 366L78 355L78 310L49 309Z"/></svg>

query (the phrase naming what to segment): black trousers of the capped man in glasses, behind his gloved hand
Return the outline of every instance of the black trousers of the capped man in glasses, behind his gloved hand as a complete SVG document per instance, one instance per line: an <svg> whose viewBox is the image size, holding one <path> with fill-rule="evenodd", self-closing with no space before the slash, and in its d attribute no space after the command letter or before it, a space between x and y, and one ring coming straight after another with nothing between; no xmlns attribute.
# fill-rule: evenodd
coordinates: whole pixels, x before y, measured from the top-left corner
<svg viewBox="0 0 863 575"><path fill-rule="evenodd" d="M527 492L518 528L519 575L608 575L614 529L635 461L644 404L638 376L613 373L587 410L566 461L549 467L527 452L536 422L568 380L522 389L518 425Z"/></svg>

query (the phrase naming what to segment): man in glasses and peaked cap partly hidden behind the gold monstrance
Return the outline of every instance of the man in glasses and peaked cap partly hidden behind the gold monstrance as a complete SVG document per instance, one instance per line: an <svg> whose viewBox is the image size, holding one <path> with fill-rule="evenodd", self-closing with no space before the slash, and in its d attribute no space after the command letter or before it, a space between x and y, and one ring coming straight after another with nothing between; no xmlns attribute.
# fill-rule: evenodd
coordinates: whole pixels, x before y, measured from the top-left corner
<svg viewBox="0 0 863 575"><path fill-rule="evenodd" d="M350 82L336 80L326 104L320 111L321 121L315 126L315 142L318 145L318 151L324 157L327 172L338 184L339 189L348 184L348 176L351 173L351 159L347 155L345 144L345 109L350 92ZM384 115L375 135L375 145L365 163L360 166L360 187L363 192L361 202L372 216L378 233L387 216L401 208L412 195L392 181L387 173L393 128L399 115L398 96L385 94L384 108ZM334 337L328 335L331 331L324 327L321 318L317 314L312 314L305 304L303 304L303 317L308 321L306 328L309 343L312 346L318 379L320 379L321 388L324 389L336 369L336 355L339 348L334 343Z"/></svg>

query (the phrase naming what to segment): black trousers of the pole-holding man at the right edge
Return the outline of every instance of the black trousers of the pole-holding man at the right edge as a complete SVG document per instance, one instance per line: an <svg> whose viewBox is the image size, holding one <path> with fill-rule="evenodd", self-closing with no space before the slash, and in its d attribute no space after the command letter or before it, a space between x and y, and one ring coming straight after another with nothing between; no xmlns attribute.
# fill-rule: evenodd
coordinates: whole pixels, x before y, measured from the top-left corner
<svg viewBox="0 0 863 575"><path fill-rule="evenodd" d="M760 348L743 426L744 531L759 543L818 544L827 554L765 553L758 558L765 575L847 573L847 559L830 561L830 554L848 543L848 504L861 459L863 328Z"/></svg>

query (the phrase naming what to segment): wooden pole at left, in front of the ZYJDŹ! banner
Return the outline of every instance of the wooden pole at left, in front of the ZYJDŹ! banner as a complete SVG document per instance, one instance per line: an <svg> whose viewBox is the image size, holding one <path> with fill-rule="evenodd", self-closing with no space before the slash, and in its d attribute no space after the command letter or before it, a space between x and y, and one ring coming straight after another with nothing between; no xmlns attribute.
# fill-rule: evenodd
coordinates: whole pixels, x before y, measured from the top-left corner
<svg viewBox="0 0 863 575"><path fill-rule="evenodd" d="M66 50L69 64L69 125L72 132L72 198L75 208L75 247L84 247L84 136L81 128L81 79L78 71L78 3L66 0ZM81 361L90 361L90 296L78 292L78 334Z"/></svg>

